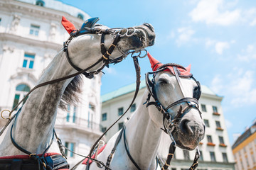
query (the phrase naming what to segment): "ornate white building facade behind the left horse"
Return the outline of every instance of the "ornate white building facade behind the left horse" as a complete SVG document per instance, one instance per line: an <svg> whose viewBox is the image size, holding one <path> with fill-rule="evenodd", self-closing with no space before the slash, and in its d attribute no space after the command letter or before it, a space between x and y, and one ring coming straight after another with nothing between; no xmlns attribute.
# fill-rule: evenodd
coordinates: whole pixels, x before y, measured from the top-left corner
<svg viewBox="0 0 256 170"><path fill-rule="evenodd" d="M61 25L62 16L76 28L90 18L84 11L60 1L0 0L0 111L11 110L21 101L63 47L69 35ZM81 103L68 106L68 111L58 111L58 137L80 154L87 155L102 134L100 85L101 76L84 79ZM0 120L0 126L4 123ZM68 162L73 164L78 156L66 153Z"/></svg>

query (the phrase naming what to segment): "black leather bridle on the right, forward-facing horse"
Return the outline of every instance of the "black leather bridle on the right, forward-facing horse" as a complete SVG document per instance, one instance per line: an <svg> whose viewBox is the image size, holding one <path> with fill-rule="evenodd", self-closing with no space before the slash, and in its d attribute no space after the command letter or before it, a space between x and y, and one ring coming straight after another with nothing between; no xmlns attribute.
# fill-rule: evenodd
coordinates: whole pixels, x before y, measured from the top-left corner
<svg viewBox="0 0 256 170"><path fill-rule="evenodd" d="M174 75L176 77L176 81L178 82L178 86L181 89L181 94L183 95L183 98L179 99L178 101L175 101L174 103L171 103L169 106L167 106L166 108L159 102L159 100L157 99L156 96L156 91L155 91L155 81L154 78L156 76L156 73L164 71L166 69L169 69L169 71L171 72L171 69L169 67L173 67L174 69ZM179 77L179 70L178 68L181 69L185 69L184 67L182 67L179 64L164 64L161 67L159 67L159 69L157 69L155 72L148 72L146 73L146 88L149 91L149 95L148 98L146 98L146 102L144 104L146 104L146 107L150 106L150 105L154 105L156 106L156 108L158 109L158 111L160 113L163 114L163 125L164 125L164 132L166 132L168 135L170 135L171 140L173 141L169 147L169 154L168 157L166 159L165 164L161 167L162 170L168 169L168 167L170 166L171 163L171 159L174 157L174 152L176 149L176 142L174 140L174 137L172 136L172 132L174 132L175 130L175 123L178 122L178 120L180 120L186 113L188 113L188 109L189 108L196 108L196 110L198 110L198 113L201 116L201 111L199 110L199 104L198 104L198 100L201 96L201 86L199 81L196 81L196 79L192 76L192 74L189 76L191 77L194 81L196 81L197 87L194 89L193 91L193 98L191 97L185 97L183 94L183 86L181 84L181 80ZM186 69L185 69L186 70ZM149 79L149 74L153 74L153 79L152 81ZM150 101L150 97L154 98L154 101ZM169 113L169 108L172 108L174 106L177 106L178 104L181 103L186 103L187 106L185 108L182 108L182 106L180 106L180 108L177 111L176 116L174 117L174 119L171 119L171 114ZM201 116L202 118L202 116ZM165 123L165 120L167 120L167 126ZM200 157L200 152L199 149L197 147L197 151L196 151L196 155L194 157L194 161L192 166L189 168L191 170L196 169L196 167L198 166L198 159ZM161 162L159 161L159 159L156 157L156 161L161 164Z"/></svg>

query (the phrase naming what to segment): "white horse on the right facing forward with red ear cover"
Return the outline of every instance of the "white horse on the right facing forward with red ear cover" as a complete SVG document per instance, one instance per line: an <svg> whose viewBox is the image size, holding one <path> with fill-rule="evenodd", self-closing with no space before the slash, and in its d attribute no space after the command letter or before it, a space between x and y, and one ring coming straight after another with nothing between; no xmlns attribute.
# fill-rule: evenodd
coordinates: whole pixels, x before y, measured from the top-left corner
<svg viewBox="0 0 256 170"><path fill-rule="evenodd" d="M195 149L203 140L205 125L198 110L200 84L190 74L190 68L186 70L176 64L157 64L157 60L148 56L155 71L154 81L146 77L148 89L137 110L124 125L124 130L117 132L97 156L97 160L106 164L121 135L112 155L110 169L156 169L161 129L169 134L171 132L177 146L183 149ZM79 169L85 169L85 165ZM100 168L92 162L90 169Z"/></svg>

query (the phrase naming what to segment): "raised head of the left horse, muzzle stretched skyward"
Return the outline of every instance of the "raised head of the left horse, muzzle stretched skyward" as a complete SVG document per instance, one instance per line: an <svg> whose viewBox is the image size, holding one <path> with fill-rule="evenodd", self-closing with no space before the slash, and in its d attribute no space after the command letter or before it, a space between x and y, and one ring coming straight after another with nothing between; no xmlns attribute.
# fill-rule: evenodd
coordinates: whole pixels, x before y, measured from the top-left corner
<svg viewBox="0 0 256 170"><path fill-rule="evenodd" d="M121 62L131 50L138 52L154 45L154 28L149 23L130 28L108 28L98 24L98 20L90 18L76 30L72 23L63 18L63 26L70 33L70 38L65 42L70 60L80 68L85 68L88 63L91 65L101 56L108 63Z"/></svg>

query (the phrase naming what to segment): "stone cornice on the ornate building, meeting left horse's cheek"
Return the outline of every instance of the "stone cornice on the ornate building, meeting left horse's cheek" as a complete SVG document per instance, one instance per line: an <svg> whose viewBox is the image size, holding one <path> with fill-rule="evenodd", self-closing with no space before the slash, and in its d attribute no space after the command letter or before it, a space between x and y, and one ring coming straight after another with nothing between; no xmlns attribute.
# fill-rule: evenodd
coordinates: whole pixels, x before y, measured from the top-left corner
<svg viewBox="0 0 256 170"><path fill-rule="evenodd" d="M14 41L21 44L26 45L33 45L37 47L43 47L53 50L60 50L63 45L57 44L55 42L49 42L49 41L41 41L41 40L33 40L31 38L25 38L14 34L9 33L0 33L0 40L1 41Z"/></svg>

